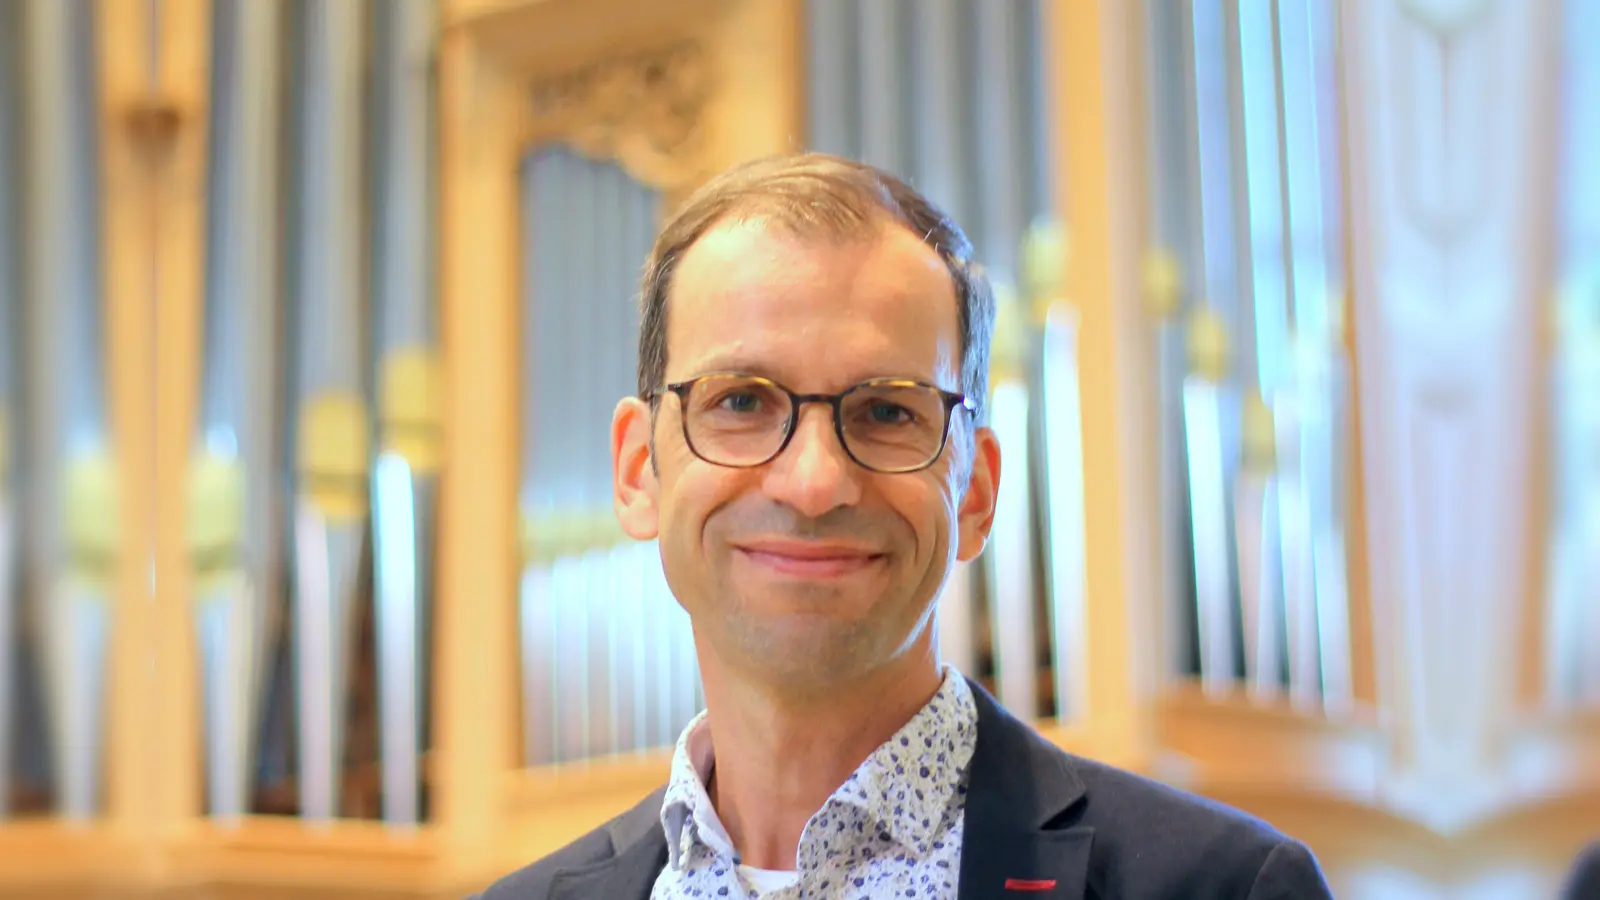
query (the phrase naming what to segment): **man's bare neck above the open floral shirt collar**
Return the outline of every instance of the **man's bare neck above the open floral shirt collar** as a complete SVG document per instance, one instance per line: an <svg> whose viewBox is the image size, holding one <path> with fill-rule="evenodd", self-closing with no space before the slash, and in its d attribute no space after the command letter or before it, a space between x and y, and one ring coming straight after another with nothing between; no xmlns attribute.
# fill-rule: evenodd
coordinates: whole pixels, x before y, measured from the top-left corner
<svg viewBox="0 0 1600 900"><path fill-rule="evenodd" d="M942 674L930 649L827 692L790 692L701 653L717 817L744 865L792 870L800 833L851 772L928 705Z"/></svg>

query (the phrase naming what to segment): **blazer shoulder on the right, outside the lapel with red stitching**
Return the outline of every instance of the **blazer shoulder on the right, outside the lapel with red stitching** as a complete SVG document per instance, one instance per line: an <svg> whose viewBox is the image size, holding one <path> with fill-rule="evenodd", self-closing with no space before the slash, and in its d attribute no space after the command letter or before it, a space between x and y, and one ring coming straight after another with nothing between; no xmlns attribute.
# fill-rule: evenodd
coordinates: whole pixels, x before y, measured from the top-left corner
<svg viewBox="0 0 1600 900"><path fill-rule="evenodd" d="M1310 850L1261 818L1090 759L1069 764L1085 788L1080 825L1094 828L1091 870L1147 882L1110 894L1331 897Z"/></svg>

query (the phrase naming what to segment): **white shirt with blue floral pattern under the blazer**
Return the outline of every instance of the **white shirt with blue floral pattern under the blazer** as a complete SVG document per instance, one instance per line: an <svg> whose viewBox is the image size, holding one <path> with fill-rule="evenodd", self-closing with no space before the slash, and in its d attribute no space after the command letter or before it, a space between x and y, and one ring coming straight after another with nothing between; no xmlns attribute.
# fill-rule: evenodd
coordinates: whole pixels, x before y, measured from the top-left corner
<svg viewBox="0 0 1600 900"><path fill-rule="evenodd" d="M966 807L966 769L978 706L966 679L944 684L872 751L800 833L794 871L739 862L710 796L710 732L701 713L683 730L661 804L667 865L651 900L914 897L955 900Z"/></svg>

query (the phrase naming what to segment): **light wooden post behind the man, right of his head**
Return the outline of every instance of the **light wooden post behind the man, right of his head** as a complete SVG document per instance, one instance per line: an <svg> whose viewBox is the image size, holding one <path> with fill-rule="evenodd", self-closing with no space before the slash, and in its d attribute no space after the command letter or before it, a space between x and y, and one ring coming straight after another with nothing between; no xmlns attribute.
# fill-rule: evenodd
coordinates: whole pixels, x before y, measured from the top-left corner
<svg viewBox="0 0 1600 900"><path fill-rule="evenodd" d="M1134 3L1054 0L1045 10L1056 216L1078 312L1088 709L1070 746L1114 764L1150 756L1155 370L1139 312L1144 109ZM1082 741L1078 740L1082 738Z"/></svg>

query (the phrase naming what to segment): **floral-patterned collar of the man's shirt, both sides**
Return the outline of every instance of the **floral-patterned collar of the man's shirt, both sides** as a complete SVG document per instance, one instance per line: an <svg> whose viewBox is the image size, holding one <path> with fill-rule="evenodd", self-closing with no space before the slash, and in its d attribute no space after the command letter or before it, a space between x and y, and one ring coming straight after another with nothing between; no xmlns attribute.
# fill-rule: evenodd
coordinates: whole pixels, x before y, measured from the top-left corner
<svg viewBox="0 0 1600 900"><path fill-rule="evenodd" d="M867 814L891 838L917 847L931 842L950 801L965 791L966 765L978 745L978 706L966 679L946 668L944 684L890 740L883 741L827 799ZM706 780L714 751L706 713L678 735L661 802L667 862L683 868L690 850L706 844L738 863L717 820Z"/></svg>

